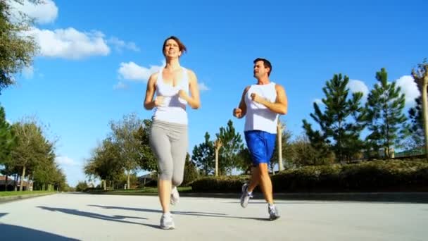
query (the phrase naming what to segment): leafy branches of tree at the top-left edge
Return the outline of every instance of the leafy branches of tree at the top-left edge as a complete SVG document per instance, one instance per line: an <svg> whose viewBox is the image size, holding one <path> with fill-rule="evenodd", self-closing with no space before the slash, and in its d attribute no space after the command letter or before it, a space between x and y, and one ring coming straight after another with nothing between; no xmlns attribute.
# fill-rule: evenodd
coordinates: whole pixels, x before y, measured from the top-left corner
<svg viewBox="0 0 428 241"><path fill-rule="evenodd" d="M11 10L10 1L0 1L0 94L2 89L13 85L15 73L31 65L38 50L34 37L25 34L32 26L32 19L23 13L13 14Z"/></svg>

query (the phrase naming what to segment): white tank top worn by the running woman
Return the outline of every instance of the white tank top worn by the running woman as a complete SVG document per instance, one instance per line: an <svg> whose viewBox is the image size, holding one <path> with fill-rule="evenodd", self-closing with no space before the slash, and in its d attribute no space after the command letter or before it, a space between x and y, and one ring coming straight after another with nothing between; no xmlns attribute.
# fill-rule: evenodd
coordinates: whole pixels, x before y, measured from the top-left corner
<svg viewBox="0 0 428 241"><path fill-rule="evenodd" d="M158 80L156 80L156 96L163 96L163 103L155 109L153 120L187 125L187 101L178 95L180 89L189 94L187 69L182 67L182 80L175 87L163 82L162 71L163 68L160 69Z"/></svg>

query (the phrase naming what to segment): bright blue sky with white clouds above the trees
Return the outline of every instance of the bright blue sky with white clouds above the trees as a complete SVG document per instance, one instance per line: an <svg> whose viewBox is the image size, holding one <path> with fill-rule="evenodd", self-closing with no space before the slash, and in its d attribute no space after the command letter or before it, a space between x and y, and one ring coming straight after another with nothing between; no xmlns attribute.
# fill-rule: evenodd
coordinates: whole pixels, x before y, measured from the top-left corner
<svg viewBox="0 0 428 241"><path fill-rule="evenodd" d="M137 113L146 80L163 64L163 40L187 45L181 58L201 86L201 109L189 110L190 148L232 118L253 59L272 62L283 85L294 136L335 73L367 93L386 68L403 87L407 106L419 94L410 70L428 57L426 1L51 1L16 6L37 20L30 32L41 49L16 76L0 103L11 123L37 116L59 137L56 161L70 185L85 180L82 165L109 132L109 121ZM150 3L148 3L150 2ZM232 118L242 132L244 120Z"/></svg>

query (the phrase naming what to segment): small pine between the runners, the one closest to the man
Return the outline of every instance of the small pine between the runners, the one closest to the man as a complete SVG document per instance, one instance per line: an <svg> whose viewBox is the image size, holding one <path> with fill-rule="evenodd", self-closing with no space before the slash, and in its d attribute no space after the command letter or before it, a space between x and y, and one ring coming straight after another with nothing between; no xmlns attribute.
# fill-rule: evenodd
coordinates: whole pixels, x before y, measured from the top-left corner
<svg viewBox="0 0 428 241"><path fill-rule="evenodd" d="M220 127L220 132L215 134L220 140L222 148L219 152L219 172L220 175L231 173L233 168L241 166L238 162L239 152L244 149L241 135L235 130L232 120L227 122L227 127Z"/></svg>

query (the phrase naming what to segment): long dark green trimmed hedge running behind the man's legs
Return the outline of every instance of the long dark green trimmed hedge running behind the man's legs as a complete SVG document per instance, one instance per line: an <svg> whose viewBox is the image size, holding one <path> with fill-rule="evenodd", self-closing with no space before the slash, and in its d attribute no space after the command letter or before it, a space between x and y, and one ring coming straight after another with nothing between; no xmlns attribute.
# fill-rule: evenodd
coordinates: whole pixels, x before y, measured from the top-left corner
<svg viewBox="0 0 428 241"><path fill-rule="evenodd" d="M240 192L248 178L206 177L190 186L193 192ZM427 192L428 162L388 160L303 166L271 178L274 192Z"/></svg>

